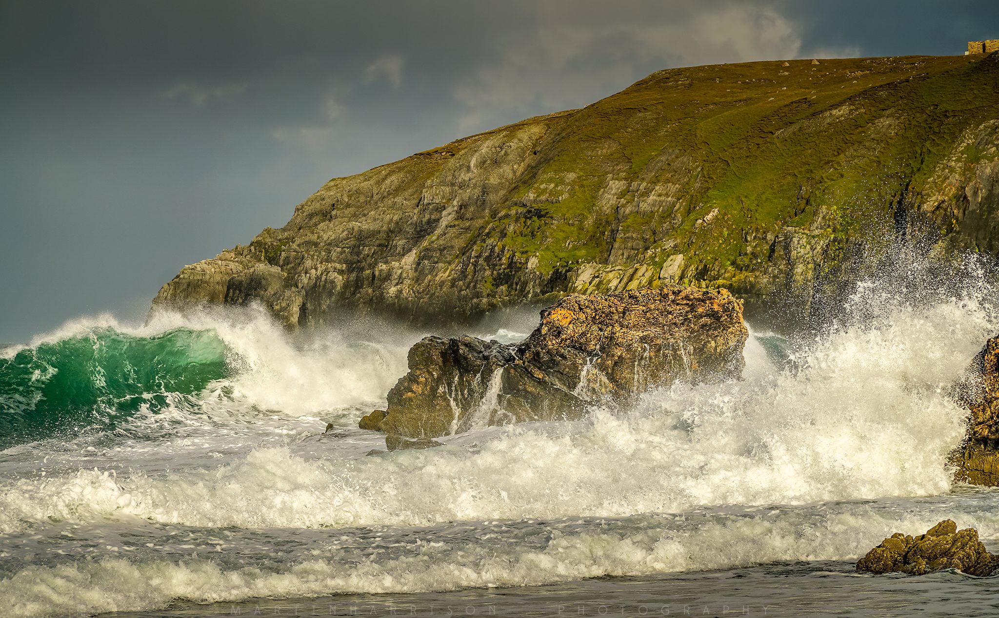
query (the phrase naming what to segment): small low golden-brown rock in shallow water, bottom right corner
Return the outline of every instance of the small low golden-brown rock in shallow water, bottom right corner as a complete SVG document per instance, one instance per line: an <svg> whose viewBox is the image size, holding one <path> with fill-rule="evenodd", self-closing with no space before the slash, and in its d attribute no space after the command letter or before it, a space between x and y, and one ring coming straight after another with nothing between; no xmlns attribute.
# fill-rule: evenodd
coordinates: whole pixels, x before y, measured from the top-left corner
<svg viewBox="0 0 999 618"><path fill-rule="evenodd" d="M923 575L941 569L957 569L985 577L999 568L999 556L990 554L978 540L978 530L957 529L944 519L926 534L912 536L896 532L857 561L858 571Z"/></svg>

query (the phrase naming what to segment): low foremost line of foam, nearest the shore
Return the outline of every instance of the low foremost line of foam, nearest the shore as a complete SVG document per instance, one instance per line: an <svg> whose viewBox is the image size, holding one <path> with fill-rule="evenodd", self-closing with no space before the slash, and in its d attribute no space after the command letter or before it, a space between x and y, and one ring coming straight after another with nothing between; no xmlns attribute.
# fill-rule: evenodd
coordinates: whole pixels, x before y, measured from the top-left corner
<svg viewBox="0 0 999 618"><path fill-rule="evenodd" d="M174 599L200 602L335 593L399 593L469 587L538 585L605 575L651 575L754 563L853 558L886 529L925 530L953 508L895 504L872 510L843 505L729 515L645 516L626 520L492 522L465 534L435 536L379 531L364 537L331 535L310 555L253 565L224 554L163 559L153 552L55 567L28 566L0 580L8 615L82 616L148 610ZM971 517L958 516L961 523ZM986 535L999 518L977 516ZM401 531L400 531L401 532ZM264 562L264 565L260 565Z"/></svg>

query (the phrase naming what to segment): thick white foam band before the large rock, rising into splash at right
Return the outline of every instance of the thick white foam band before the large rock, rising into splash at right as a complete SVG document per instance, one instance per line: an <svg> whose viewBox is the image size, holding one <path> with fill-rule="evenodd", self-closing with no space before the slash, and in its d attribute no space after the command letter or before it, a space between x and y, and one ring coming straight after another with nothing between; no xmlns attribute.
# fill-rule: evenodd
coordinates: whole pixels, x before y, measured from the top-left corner
<svg viewBox="0 0 999 618"><path fill-rule="evenodd" d="M794 371L773 369L754 344L750 379L675 385L629 412L491 428L443 448L315 459L261 447L170 474L21 478L0 488L0 530L130 515L202 526L422 525L932 495L950 488L946 455L963 435L964 413L945 390L981 346L986 317L962 301L900 307L816 341ZM293 380L285 392L298 388Z"/></svg>

